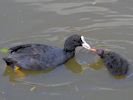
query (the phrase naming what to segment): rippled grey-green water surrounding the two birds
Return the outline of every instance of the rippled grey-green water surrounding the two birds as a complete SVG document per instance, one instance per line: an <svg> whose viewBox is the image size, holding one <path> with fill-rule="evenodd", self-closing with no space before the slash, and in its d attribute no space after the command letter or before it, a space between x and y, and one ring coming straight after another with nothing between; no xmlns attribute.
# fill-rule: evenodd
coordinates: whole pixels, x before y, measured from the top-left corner
<svg viewBox="0 0 133 100"><path fill-rule="evenodd" d="M132 6L132 0L0 0L0 48L24 43L62 48L67 36L78 33L131 63L129 76L116 79L83 48L54 70L19 73L0 61L0 100L132 100Z"/></svg>

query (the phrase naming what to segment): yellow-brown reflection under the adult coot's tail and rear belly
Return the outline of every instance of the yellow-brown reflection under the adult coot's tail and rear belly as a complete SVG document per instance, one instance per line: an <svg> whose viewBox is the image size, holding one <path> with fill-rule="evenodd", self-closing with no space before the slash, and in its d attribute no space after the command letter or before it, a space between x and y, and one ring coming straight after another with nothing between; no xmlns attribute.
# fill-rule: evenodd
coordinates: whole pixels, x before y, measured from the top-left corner
<svg viewBox="0 0 133 100"><path fill-rule="evenodd" d="M51 72L54 69L46 69L46 70L14 70L13 68L11 68L10 66L6 66L5 71L3 73L3 76L9 76L9 81L11 82L15 82L16 79L23 79L24 77L28 76L28 75L36 75L36 74L44 74L44 73L48 73Z"/></svg>

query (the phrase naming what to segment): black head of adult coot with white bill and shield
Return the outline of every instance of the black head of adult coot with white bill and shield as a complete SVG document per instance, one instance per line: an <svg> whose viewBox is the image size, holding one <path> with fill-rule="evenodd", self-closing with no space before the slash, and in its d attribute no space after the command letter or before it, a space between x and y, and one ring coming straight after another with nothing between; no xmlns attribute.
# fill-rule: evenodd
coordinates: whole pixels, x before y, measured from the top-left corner
<svg viewBox="0 0 133 100"><path fill-rule="evenodd" d="M77 34L71 35L65 41L64 50L65 51L75 51L75 48L78 46L83 46L83 45L87 46L87 44L85 44L85 42L83 41L82 38L83 38L83 36L80 36Z"/></svg>

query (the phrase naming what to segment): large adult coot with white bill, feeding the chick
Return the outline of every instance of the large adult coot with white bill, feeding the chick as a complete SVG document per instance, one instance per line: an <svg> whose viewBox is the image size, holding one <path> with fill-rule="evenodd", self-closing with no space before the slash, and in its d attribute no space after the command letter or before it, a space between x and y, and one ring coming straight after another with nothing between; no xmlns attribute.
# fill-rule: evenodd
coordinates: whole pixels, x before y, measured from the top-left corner
<svg viewBox="0 0 133 100"><path fill-rule="evenodd" d="M81 37L83 36L77 34L68 37L63 49L45 44L18 45L10 48L8 57L3 60L12 68L15 66L26 70L55 68L74 57L76 47L85 45Z"/></svg>

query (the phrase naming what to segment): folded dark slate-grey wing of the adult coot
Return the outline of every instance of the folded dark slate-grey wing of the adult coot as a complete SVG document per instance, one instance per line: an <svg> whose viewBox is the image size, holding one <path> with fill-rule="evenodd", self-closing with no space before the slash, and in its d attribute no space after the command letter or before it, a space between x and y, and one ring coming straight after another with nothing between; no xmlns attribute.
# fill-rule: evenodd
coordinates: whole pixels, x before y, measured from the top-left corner
<svg viewBox="0 0 133 100"><path fill-rule="evenodd" d="M24 69L45 69L55 67L66 61L62 49L44 44L26 44L10 48L8 58L14 65Z"/></svg>

